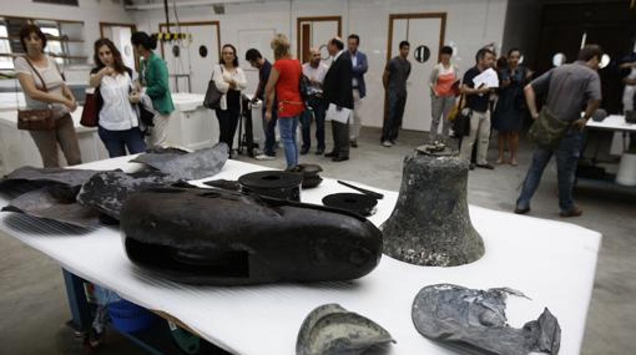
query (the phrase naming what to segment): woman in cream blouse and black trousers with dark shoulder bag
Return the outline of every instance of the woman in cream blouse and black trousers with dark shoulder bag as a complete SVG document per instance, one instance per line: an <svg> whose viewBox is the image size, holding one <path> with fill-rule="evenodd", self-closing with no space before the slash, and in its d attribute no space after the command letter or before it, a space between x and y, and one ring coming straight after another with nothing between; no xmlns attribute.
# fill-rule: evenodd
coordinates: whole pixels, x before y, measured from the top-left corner
<svg viewBox="0 0 636 355"><path fill-rule="evenodd" d="M239 115L241 112L241 94L240 91L247 86L245 73L239 67L239 58L237 58L237 50L232 44L225 44L221 50L221 63L214 66L212 79L216 83L216 87L223 93L219 107L215 110L216 118L219 120L219 142L225 142L230 147L232 154L232 145L234 143L234 135L239 126Z"/></svg>

